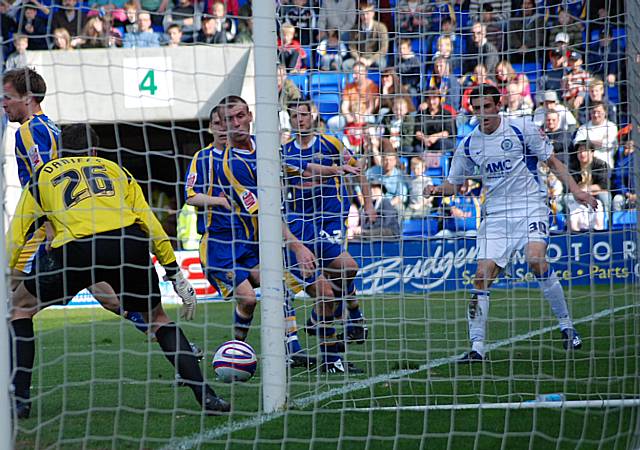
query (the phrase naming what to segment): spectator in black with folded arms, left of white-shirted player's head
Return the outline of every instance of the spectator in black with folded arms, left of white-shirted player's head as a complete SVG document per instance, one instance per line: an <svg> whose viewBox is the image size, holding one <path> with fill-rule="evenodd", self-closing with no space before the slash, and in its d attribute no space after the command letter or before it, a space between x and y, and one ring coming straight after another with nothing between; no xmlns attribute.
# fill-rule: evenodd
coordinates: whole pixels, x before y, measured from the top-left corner
<svg viewBox="0 0 640 450"><path fill-rule="evenodd" d="M416 131L416 140L427 152L454 150L456 135L455 120L451 113L442 107L442 96L436 89L425 93L426 105L420 105L420 129Z"/></svg>

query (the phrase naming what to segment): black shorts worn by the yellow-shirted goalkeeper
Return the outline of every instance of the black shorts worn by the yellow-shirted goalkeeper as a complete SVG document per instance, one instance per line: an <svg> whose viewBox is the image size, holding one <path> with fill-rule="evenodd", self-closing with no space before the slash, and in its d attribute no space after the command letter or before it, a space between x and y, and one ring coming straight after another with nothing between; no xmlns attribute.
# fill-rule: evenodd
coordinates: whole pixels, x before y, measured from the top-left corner
<svg viewBox="0 0 640 450"><path fill-rule="evenodd" d="M34 262L25 280L41 306L66 305L101 281L111 285L125 311L150 311L160 303L149 237L138 225L68 242Z"/></svg>

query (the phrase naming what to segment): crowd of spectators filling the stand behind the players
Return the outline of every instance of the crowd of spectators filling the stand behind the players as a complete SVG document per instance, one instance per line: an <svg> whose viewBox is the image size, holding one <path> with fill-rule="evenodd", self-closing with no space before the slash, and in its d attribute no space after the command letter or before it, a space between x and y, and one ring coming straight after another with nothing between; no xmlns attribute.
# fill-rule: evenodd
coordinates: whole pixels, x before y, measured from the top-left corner
<svg viewBox="0 0 640 450"><path fill-rule="evenodd" d="M248 0L61 2L0 2L6 69L27 64L32 50L252 42ZM369 159L376 204L395 215L376 225L389 228L379 232L402 233L403 221L416 219L437 222L429 233L468 232L479 220L481 186L470 182L444 201L426 197L424 186L442 182L457 143L475 126L473 87L492 84L502 114L533 120L602 205L594 212L572 203L548 175L551 223L610 227L612 213L636 207L626 37L623 20L606 11L587 19L585 3L280 0L283 136L290 136L284 105L310 98L318 127ZM314 87L323 75L333 83ZM373 226L363 223L357 200L350 224L352 236Z"/></svg>

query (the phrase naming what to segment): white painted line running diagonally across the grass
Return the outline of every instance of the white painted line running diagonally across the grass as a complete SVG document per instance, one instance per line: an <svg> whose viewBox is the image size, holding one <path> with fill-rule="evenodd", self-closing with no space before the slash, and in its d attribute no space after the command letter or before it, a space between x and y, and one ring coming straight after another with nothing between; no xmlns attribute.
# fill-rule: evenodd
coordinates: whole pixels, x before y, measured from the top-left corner
<svg viewBox="0 0 640 450"><path fill-rule="evenodd" d="M604 309L602 311L599 311L595 314L591 314L589 316L585 316L581 319L575 320L574 323L579 324L579 323L584 323L584 322L591 322L593 320L598 320L601 319L603 317L607 317L610 316L612 314L615 314L617 312L620 311L624 311L625 309L630 309L630 308L635 308L638 307L640 305L637 304L633 304L633 305L625 305L625 306L618 306L617 308L614 309ZM508 339L503 339L501 341L497 341L494 342L493 344L489 344L487 345L487 351L491 351L491 350L495 350L497 348L500 347L505 347L511 344L514 344L516 342L519 341L524 341L527 339L530 339L534 336L539 336L541 334L544 333L548 333L549 331L553 331L557 329L557 326L551 326L551 327L545 327L545 328L541 328L539 330L535 330L535 331L530 331L528 333L525 334L519 334L517 336L513 336L510 337ZM356 381L350 384L347 384L345 386L339 387L339 388L334 388L334 389L330 389L328 391L325 392L321 392L319 394L315 394L315 395L310 395L308 397L303 397L300 399L294 399L291 402L289 402L289 410L294 408L294 409L303 409L313 403L317 403L317 402L322 402L324 400L327 400L329 398L332 397L336 397L339 395L344 395L344 394L348 394L350 392L353 391L357 391L360 389L366 389L372 385L378 384L378 383L384 383L390 380L394 380L397 378L403 378L409 375L413 375L415 373L418 372L422 372L428 369L433 369L435 367L439 367L439 366L444 366L446 364L451 364L452 362L458 360L460 357L462 356L462 354L458 354L458 355L453 355L453 356L448 356L446 358L439 358L439 359L434 359L432 361L429 361L426 364L421 365L420 367L418 367L417 369L403 369L403 370L395 370L393 372L389 372L389 373L385 373L385 374L381 374L381 375L376 375L374 377L371 378L367 378L366 380L362 380L362 381ZM553 403L561 403L561 402L553 402ZM566 403L566 402L565 402ZM474 406L478 406L478 405L474 405ZM237 422L230 422L227 423L224 426L221 427L217 427L217 428L213 428L211 430L207 430L203 433L196 433L192 436L186 437L186 438L180 438L180 439L174 439L169 441L169 443L162 447L163 450L171 450L171 449L180 449L180 450L188 450L188 449L192 449L194 447L196 447L198 444L203 443L204 441L209 441L209 440L213 440L222 436L225 436L227 434L231 434L231 433L235 433L236 431L241 431L244 430L245 428L256 428L259 427L267 422L270 422L272 420L278 419L282 416L284 416L286 414L288 410L285 411L275 411L272 413L268 413L268 414L260 414L258 416L254 416L254 417L250 417L248 419L245 420L241 420L241 421L237 421Z"/></svg>

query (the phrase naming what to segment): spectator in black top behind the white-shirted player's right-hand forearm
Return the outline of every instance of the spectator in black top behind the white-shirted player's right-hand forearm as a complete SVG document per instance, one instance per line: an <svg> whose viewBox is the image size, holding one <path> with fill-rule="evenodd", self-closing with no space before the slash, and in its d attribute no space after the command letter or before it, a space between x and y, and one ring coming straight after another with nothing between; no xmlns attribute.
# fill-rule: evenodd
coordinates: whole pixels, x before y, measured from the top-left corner
<svg viewBox="0 0 640 450"><path fill-rule="evenodd" d="M572 167L573 178L580 188L598 199L598 208L588 206L566 196L571 231L604 230L604 217L609 211L609 165L594 157L593 147L587 141L578 141L576 159Z"/></svg>

